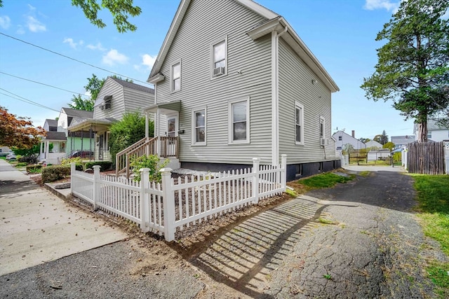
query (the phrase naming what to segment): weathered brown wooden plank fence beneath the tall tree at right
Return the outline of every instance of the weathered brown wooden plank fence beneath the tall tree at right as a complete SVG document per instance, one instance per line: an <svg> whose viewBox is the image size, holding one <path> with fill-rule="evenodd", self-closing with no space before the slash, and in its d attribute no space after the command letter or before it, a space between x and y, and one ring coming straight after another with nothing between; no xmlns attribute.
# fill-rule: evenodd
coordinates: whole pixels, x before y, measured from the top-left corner
<svg viewBox="0 0 449 299"><path fill-rule="evenodd" d="M408 144L407 169L412 174L445 174L444 142Z"/></svg>

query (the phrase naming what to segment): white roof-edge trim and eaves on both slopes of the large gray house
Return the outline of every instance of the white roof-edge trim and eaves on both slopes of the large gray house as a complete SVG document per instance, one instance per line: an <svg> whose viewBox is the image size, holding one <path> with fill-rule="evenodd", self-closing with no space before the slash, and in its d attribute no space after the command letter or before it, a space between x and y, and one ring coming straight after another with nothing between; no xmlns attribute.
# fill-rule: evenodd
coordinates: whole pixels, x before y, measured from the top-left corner
<svg viewBox="0 0 449 299"><path fill-rule="evenodd" d="M266 22L260 22L259 24L257 24L257 26L255 26L255 28L251 29L250 32L248 32L248 36L250 36L252 39L258 39L261 36L269 34L273 30L278 31L279 33L284 32L282 38L293 48L293 50L295 50L297 55L301 57L305 64L307 64L310 69L314 71L316 76L319 76L326 87L329 88L331 92L340 90L340 88L338 88L337 84L333 81L333 78L330 77L326 69L324 69L321 63L316 59L309 48L307 48L304 42L293 30L293 27L291 27L281 15L270 11L268 8L265 8L264 6L261 6L260 4L257 4L252 0L234 1L267 19ZM160 74L163 61L165 60L168 50L170 49L170 46L175 39L177 30L181 25L182 19L184 18L190 2L191 0L182 0L180 6L178 6L175 18L173 18L166 38L162 43L161 50L159 51L159 54L156 58L156 62L154 62L152 71L149 74L148 81L154 83L154 81L151 80L153 77L156 82L159 81L159 78L163 78L163 75Z"/></svg>

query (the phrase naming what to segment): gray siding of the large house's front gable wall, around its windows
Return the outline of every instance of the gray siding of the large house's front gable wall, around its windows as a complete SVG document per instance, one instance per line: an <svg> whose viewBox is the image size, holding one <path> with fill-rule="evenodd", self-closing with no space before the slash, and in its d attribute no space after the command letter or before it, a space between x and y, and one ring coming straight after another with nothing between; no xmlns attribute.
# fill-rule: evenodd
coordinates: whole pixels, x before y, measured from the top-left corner
<svg viewBox="0 0 449 299"><path fill-rule="evenodd" d="M250 164L272 160L271 39L246 34L264 20L231 0L192 1L161 68L157 102L181 100L180 161ZM227 36L227 76L210 80L210 44ZM181 90L170 68L181 61ZM237 74L241 71L241 74ZM250 97L250 144L228 144L230 100ZM192 146L192 109L207 107L206 146ZM165 130L161 126L161 130Z"/></svg>

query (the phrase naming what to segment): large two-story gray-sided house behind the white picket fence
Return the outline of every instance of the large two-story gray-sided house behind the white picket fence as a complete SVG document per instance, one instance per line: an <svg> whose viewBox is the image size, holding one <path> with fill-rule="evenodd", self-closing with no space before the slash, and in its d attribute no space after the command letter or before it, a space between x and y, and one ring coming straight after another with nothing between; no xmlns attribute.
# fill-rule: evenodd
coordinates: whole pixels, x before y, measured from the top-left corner
<svg viewBox="0 0 449 299"><path fill-rule="evenodd" d="M288 22L250 0L182 0L148 78L155 136L182 167L278 164L288 180L340 167L331 136L339 88Z"/></svg>

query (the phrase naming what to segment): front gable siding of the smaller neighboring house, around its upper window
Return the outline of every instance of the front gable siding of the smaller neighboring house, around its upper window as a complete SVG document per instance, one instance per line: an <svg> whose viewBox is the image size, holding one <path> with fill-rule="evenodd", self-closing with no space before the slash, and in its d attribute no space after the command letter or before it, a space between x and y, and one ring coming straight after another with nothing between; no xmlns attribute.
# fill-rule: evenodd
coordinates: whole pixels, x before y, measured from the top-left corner
<svg viewBox="0 0 449 299"><path fill-rule="evenodd" d="M112 95L111 109L102 110L99 104L103 102L103 98L107 95ZM121 117L125 113L125 102L123 97L123 86L116 83L112 79L106 79L97 99L95 100L95 107L93 109L93 118L115 118L116 120L121 120Z"/></svg>

